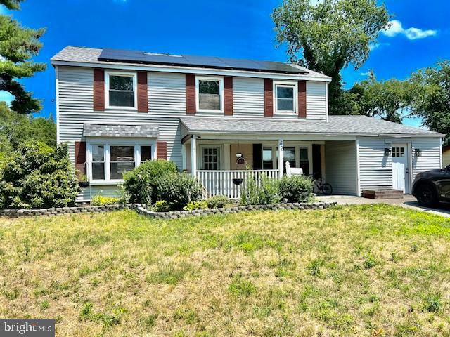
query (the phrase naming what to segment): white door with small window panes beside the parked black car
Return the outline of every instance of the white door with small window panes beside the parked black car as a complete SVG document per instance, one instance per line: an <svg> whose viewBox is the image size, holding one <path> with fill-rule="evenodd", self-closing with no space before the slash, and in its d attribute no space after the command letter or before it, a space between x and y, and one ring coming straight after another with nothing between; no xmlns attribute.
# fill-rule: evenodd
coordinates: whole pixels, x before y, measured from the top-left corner
<svg viewBox="0 0 450 337"><path fill-rule="evenodd" d="M409 192L408 145L392 144L392 188Z"/></svg>

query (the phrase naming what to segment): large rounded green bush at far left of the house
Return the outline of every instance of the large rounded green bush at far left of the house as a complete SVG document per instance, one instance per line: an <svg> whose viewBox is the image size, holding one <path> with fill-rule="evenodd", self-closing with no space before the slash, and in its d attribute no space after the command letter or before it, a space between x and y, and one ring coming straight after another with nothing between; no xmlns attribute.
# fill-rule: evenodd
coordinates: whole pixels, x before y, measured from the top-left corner
<svg viewBox="0 0 450 337"><path fill-rule="evenodd" d="M52 149L25 143L0 169L0 208L44 209L74 206L79 192L68 145Z"/></svg>

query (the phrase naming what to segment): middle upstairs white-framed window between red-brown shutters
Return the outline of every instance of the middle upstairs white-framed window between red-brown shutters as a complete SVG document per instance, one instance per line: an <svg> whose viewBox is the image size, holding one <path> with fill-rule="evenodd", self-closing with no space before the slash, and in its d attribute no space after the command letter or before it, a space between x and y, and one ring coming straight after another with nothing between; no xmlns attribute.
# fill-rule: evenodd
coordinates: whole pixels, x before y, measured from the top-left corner
<svg viewBox="0 0 450 337"><path fill-rule="evenodd" d="M197 77L197 107L202 112L223 110L224 81L221 77Z"/></svg>

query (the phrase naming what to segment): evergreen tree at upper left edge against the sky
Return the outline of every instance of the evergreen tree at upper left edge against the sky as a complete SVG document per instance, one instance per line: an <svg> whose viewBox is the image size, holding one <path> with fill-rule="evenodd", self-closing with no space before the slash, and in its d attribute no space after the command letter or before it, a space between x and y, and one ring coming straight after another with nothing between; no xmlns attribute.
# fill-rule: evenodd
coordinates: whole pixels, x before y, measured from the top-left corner
<svg viewBox="0 0 450 337"><path fill-rule="evenodd" d="M8 9L19 9L23 0L0 0ZM25 91L17 79L32 77L34 72L46 68L45 63L31 60L42 47L39 41L45 29L22 27L9 15L0 15L0 91L14 96L11 108L20 114L39 112L41 103Z"/></svg>

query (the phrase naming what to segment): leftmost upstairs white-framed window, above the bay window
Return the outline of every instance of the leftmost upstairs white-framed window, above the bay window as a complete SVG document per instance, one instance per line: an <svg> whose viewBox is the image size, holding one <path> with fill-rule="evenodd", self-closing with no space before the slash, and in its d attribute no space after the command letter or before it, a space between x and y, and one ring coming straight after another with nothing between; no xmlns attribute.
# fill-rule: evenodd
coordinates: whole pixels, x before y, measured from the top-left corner
<svg viewBox="0 0 450 337"><path fill-rule="evenodd" d="M136 74L127 72L106 72L107 107L135 108Z"/></svg>

